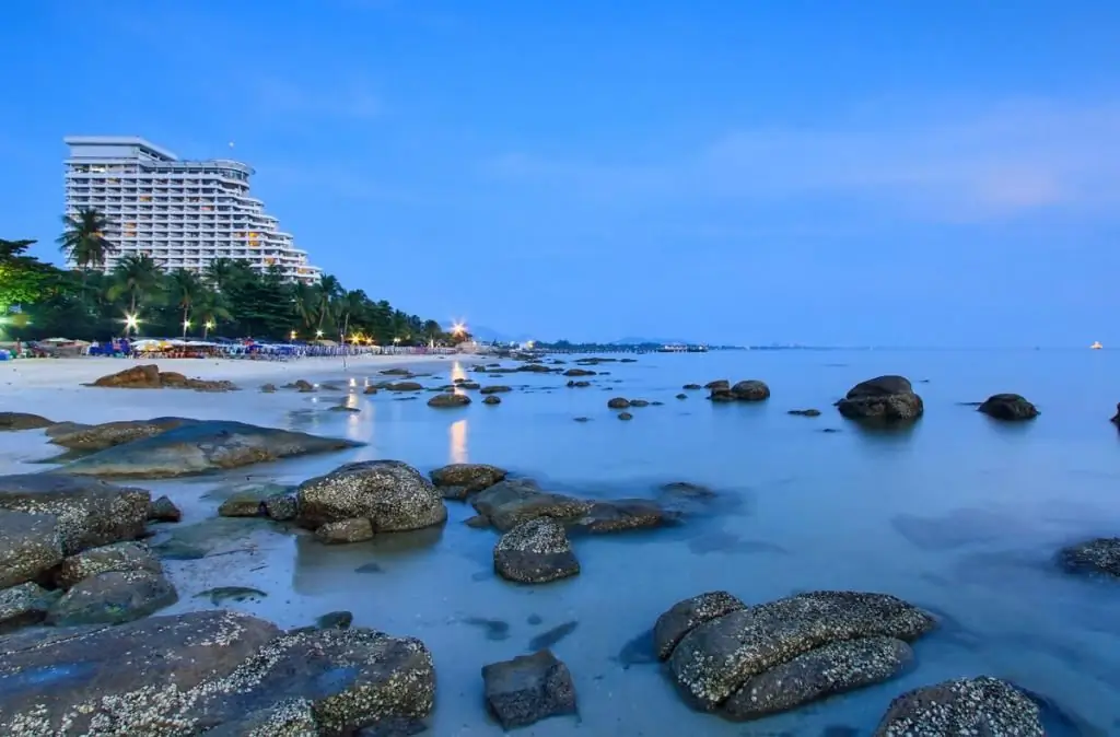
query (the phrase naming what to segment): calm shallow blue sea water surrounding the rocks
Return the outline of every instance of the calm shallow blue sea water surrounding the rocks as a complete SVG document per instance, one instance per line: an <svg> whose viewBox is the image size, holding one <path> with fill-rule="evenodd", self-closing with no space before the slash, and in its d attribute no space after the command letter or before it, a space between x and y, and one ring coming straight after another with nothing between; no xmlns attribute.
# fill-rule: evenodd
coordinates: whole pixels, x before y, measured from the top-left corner
<svg viewBox="0 0 1120 737"><path fill-rule="evenodd" d="M429 385L467 368L451 361L432 367L439 376L422 380ZM728 503L718 515L681 529L580 538L573 544L582 572L539 587L493 576L496 534L464 525L473 510L455 502L442 529L328 548L268 523L243 524L203 561L168 562L180 591L168 612L211 607L195 596L208 588L245 586L268 596L227 606L281 626L349 609L357 626L422 638L437 662L429 722L440 737L502 733L485 715L479 669L526 652L534 638L552 642L571 669L580 717L545 720L524 735L869 734L898 693L981 673L1047 697L1070 722L1065 734L1120 733L1120 584L1074 579L1051 565L1062 544L1120 530L1120 438L1108 422L1120 399L1120 354L730 352L643 355L598 368L610 373L589 377L587 389L567 389L558 375L470 373L515 388L498 407L432 410L428 394L400 401L381 392L351 395L345 401L361 412L344 413L326 411L344 394L241 392L194 395L205 405L187 412L181 394L160 392L118 405L112 418L84 418L95 409L75 407L77 417L60 419L189 413L370 444L143 484L184 509L180 526L214 514L216 487L296 484L372 458L426 472L492 463L588 495L650 495L673 481L722 495ZM926 414L909 431L860 430L831 407L852 384L883 373L909 376L925 400ZM706 392L674 399L682 384L713 379L763 379L773 395L731 405L706 401ZM1043 414L1007 426L960 404L1001 391L1026 395ZM614 395L664 404L631 410L634 420L620 422L606 408ZM810 407L823 414L786 414ZM575 422L579 416L590 421ZM49 455L41 433L19 435L0 465L43 469L22 466ZM818 588L895 594L934 610L945 626L916 645L917 668L904 678L745 725L690 711L634 644L663 610L702 591L727 589L757 603Z"/></svg>

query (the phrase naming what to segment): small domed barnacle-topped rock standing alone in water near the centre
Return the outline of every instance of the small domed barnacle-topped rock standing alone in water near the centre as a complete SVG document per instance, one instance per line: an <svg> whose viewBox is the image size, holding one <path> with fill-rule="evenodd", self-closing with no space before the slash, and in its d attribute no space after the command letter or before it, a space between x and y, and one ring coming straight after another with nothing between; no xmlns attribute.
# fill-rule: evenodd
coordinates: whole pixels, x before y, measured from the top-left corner
<svg viewBox="0 0 1120 737"><path fill-rule="evenodd" d="M579 573L579 561L563 526L551 517L536 517L497 541L494 571L519 584L548 584Z"/></svg>

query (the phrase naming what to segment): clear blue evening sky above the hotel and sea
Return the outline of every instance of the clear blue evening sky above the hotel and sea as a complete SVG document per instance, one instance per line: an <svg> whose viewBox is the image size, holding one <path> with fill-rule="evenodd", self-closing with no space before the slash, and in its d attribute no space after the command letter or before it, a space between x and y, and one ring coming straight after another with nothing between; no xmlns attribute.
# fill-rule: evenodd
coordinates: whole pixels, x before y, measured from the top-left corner
<svg viewBox="0 0 1120 737"><path fill-rule="evenodd" d="M1120 3L114 0L0 27L0 237L65 134L253 165L344 283L614 339L1120 344Z"/></svg>

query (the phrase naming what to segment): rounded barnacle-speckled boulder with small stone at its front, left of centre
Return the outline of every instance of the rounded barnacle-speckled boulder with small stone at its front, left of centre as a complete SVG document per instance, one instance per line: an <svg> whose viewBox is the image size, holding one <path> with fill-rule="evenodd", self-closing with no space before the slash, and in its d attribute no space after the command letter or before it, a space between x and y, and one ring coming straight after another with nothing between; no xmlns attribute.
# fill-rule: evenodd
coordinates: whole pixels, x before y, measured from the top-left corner
<svg viewBox="0 0 1120 737"><path fill-rule="evenodd" d="M297 523L311 530L355 517L368 519L374 532L419 530L447 521L447 506L435 486L398 460L340 466L300 484L297 496Z"/></svg>

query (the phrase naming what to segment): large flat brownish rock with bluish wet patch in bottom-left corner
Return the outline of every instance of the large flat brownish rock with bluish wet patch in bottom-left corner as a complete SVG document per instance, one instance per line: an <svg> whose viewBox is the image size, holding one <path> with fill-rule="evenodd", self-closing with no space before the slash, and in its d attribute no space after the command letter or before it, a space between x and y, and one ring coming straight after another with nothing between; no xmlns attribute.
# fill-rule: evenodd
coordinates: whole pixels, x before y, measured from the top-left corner
<svg viewBox="0 0 1120 737"><path fill-rule="evenodd" d="M0 734L183 734L151 730L279 634L218 610L10 635L0 641ZM195 731L190 720L184 731Z"/></svg>

